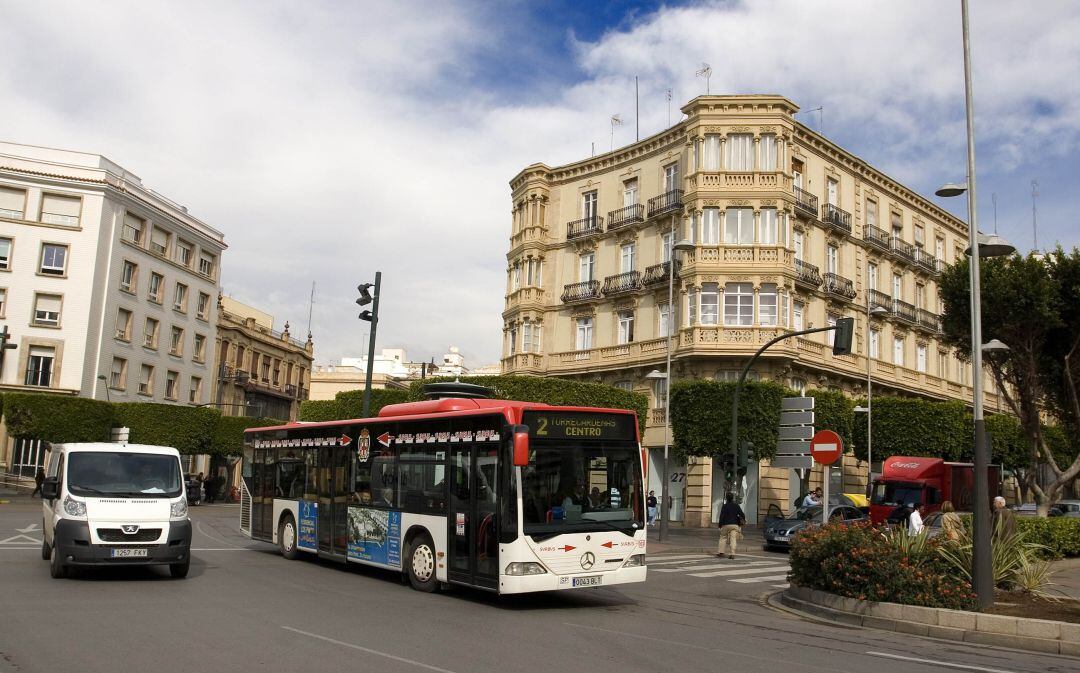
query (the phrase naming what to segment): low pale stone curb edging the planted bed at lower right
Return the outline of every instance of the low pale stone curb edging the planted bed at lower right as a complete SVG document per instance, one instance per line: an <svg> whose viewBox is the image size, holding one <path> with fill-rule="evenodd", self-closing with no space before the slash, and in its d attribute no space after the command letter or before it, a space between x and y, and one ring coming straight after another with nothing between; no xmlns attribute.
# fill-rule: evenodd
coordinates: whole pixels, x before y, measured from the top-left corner
<svg viewBox="0 0 1080 673"><path fill-rule="evenodd" d="M805 587L770 595L769 605L850 627L1080 657L1080 623L874 603Z"/></svg>

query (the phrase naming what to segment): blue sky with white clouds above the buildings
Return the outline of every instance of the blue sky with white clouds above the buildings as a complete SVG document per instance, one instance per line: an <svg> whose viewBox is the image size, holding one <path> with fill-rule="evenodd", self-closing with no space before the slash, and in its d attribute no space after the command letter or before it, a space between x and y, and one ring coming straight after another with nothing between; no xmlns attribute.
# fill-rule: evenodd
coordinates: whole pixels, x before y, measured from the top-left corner
<svg viewBox="0 0 1080 673"><path fill-rule="evenodd" d="M5 139L96 151L226 232L227 294L362 352L500 356L509 180L643 137L704 93L822 106L824 134L923 194L962 181L958 1L4 2ZM972 2L980 225L1080 244L1080 10ZM64 21L57 21L64 17ZM79 30L70 30L78 26ZM43 49L42 45L48 45ZM799 117L816 129L816 113ZM941 201L964 216L966 200Z"/></svg>

